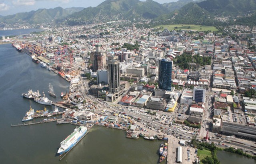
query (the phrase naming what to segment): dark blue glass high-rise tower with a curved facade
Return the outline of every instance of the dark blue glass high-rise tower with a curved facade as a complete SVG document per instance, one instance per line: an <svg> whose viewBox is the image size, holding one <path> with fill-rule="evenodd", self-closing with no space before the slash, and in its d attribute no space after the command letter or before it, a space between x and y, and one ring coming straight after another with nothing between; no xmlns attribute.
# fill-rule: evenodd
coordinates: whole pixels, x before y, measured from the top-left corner
<svg viewBox="0 0 256 164"><path fill-rule="evenodd" d="M172 60L170 58L159 60L158 86L160 89L172 89Z"/></svg>

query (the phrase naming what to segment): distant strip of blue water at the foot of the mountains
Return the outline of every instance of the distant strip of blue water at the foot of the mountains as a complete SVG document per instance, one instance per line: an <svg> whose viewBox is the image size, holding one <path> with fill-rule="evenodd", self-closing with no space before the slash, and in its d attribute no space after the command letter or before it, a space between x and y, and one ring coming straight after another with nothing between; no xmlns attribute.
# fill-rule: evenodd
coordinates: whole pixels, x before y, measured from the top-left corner
<svg viewBox="0 0 256 164"><path fill-rule="evenodd" d="M43 31L39 28L28 28L28 29L16 29L16 30L0 30L0 36L13 36L13 35L24 35L30 34L30 32L40 32Z"/></svg>

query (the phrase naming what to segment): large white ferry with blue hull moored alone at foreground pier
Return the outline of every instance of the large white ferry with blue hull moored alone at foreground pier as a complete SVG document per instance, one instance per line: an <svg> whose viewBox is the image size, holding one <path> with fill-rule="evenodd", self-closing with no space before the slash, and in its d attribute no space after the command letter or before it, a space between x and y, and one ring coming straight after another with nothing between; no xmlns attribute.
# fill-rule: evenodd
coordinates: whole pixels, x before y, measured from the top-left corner
<svg viewBox="0 0 256 164"><path fill-rule="evenodd" d="M74 132L72 132L65 140L60 142L60 148L58 149L58 154L63 154L65 152L68 152L73 146L76 145L77 142L86 134L87 128L86 126L80 126L74 129Z"/></svg>

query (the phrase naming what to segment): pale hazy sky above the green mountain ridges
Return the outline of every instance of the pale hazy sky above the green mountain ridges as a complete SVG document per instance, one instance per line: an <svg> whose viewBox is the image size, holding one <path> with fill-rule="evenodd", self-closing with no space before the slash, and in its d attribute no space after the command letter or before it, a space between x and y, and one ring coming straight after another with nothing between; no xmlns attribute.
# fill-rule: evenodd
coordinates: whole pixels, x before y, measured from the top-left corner
<svg viewBox="0 0 256 164"><path fill-rule="evenodd" d="M146 1L146 0L140 0ZM154 0L158 3L174 2L178 0ZM98 6L104 0L0 0L0 15L6 16L17 12L29 12L39 8L69 8Z"/></svg>

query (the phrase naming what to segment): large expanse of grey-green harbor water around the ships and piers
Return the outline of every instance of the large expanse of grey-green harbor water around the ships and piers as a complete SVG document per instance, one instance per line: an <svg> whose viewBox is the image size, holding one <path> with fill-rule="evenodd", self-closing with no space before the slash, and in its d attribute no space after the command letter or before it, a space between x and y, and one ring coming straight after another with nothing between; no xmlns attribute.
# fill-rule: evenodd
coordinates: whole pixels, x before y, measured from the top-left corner
<svg viewBox="0 0 256 164"><path fill-rule="evenodd" d="M51 83L56 98L48 95ZM162 141L128 139L124 131L94 126L77 146L59 161L56 152L60 142L73 132L71 124L55 122L30 126L21 124L29 106L43 110L44 106L23 98L29 89L45 92L54 102L60 93L68 91L68 82L32 62L31 57L18 52L11 44L0 45L0 159L1 164L156 164ZM46 106L50 111L54 106ZM63 110L63 109L62 109ZM32 122L40 121L37 118Z"/></svg>

